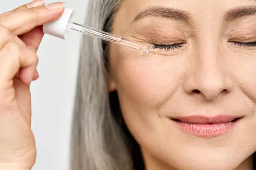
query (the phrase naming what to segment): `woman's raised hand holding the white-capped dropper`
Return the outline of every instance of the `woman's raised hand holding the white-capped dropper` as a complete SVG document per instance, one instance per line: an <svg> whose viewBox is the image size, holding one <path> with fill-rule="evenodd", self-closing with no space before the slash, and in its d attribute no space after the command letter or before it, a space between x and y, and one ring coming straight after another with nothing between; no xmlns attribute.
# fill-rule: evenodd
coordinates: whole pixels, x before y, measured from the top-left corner
<svg viewBox="0 0 256 170"><path fill-rule="evenodd" d="M36 160L31 131L31 81L42 26L60 18L63 3L42 0L0 15L0 170L30 170Z"/></svg>

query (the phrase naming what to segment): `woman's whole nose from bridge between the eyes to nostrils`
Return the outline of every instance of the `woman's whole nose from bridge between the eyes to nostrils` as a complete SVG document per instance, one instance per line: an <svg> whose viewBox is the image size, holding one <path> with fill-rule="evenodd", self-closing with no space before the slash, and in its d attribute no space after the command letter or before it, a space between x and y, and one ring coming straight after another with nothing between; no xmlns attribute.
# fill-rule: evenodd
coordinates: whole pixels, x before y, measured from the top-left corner
<svg viewBox="0 0 256 170"><path fill-rule="evenodd" d="M185 82L185 91L198 94L205 100L214 100L223 92L228 92L230 84L224 69L220 39L214 33L205 33L196 43L192 70Z"/></svg>

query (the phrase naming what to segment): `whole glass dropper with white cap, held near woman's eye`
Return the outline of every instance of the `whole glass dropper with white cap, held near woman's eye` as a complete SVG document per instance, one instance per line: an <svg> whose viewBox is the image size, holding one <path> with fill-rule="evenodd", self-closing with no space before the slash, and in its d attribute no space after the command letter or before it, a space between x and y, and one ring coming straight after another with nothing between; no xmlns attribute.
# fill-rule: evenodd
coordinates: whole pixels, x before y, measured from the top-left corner
<svg viewBox="0 0 256 170"><path fill-rule="evenodd" d="M73 18L74 10L65 7L64 13L61 15L61 18L52 23L45 24L43 26L43 32L49 35L53 35L55 37L67 39L70 30L75 30L78 32L82 32L86 35L90 35L93 37L100 38L102 40L113 42L115 44L125 45L127 47L132 47L137 50L143 50L144 53L149 52L149 47L147 47L146 45L143 45L133 40L128 40L124 37L113 35L109 32L104 32L101 30L97 30L95 28L90 28L88 26L74 23L72 21Z"/></svg>

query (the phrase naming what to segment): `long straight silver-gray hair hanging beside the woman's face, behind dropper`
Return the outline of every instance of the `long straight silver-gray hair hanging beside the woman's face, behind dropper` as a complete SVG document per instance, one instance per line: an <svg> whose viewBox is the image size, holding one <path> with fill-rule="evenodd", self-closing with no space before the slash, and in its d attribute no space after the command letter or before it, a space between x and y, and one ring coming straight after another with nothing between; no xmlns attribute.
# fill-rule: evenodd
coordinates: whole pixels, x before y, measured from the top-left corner
<svg viewBox="0 0 256 170"><path fill-rule="evenodd" d="M85 25L111 30L119 0L90 0ZM132 170L125 135L111 114L104 54L108 46L84 35L72 122L71 170Z"/></svg>

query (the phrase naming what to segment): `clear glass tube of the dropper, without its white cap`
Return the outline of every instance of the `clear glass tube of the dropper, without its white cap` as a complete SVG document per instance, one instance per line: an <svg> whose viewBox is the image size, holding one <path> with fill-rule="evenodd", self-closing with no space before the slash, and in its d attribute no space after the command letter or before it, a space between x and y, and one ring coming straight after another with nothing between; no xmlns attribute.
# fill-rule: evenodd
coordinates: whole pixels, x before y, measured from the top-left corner
<svg viewBox="0 0 256 170"><path fill-rule="evenodd" d="M113 42L115 44L125 45L125 46L128 46L128 47L132 47L134 49L137 49L137 50L143 50L144 53L149 52L148 51L149 47L146 47L146 45L140 44L140 43L138 43L136 41L133 41L133 40L128 40L127 38L124 38L124 37L118 37L118 36L113 35L113 34L108 33L108 32L104 32L104 31L97 30L97 29L94 29L94 28L90 28L90 27L87 27L87 26L84 26L84 25L73 23L71 21L69 21L69 28L72 29L72 30L82 32L82 33L87 34L87 35L91 35L93 37L100 38L102 40Z"/></svg>

